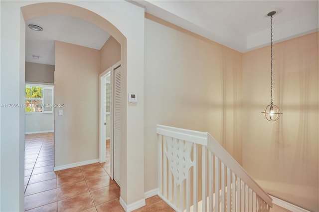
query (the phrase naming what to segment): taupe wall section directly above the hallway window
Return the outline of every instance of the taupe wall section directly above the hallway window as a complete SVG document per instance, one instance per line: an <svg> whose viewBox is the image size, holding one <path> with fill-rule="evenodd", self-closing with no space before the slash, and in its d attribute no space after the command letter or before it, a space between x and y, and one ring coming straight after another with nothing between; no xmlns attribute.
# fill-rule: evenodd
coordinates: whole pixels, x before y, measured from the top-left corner
<svg viewBox="0 0 319 212"><path fill-rule="evenodd" d="M25 81L54 83L54 65L25 62Z"/></svg>

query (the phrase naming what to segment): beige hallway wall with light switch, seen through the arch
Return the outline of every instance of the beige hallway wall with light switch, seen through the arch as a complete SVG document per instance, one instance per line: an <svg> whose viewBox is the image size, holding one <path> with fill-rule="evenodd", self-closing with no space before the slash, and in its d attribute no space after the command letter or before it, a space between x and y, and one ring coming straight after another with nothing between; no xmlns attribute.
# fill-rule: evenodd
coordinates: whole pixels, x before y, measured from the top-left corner
<svg viewBox="0 0 319 212"><path fill-rule="evenodd" d="M55 42L55 167L99 158L99 50ZM63 110L63 116L58 110Z"/></svg>

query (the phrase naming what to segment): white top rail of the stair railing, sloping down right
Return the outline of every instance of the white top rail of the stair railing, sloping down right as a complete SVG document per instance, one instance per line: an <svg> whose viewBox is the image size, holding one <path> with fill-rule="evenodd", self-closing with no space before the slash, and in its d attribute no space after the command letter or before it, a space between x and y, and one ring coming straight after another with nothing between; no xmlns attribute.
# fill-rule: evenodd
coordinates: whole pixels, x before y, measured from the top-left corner
<svg viewBox="0 0 319 212"><path fill-rule="evenodd" d="M243 180L270 207L273 206L271 197L256 183L240 164L207 132L199 132L164 125L157 125L157 133L172 138L206 146L232 172Z"/></svg>

